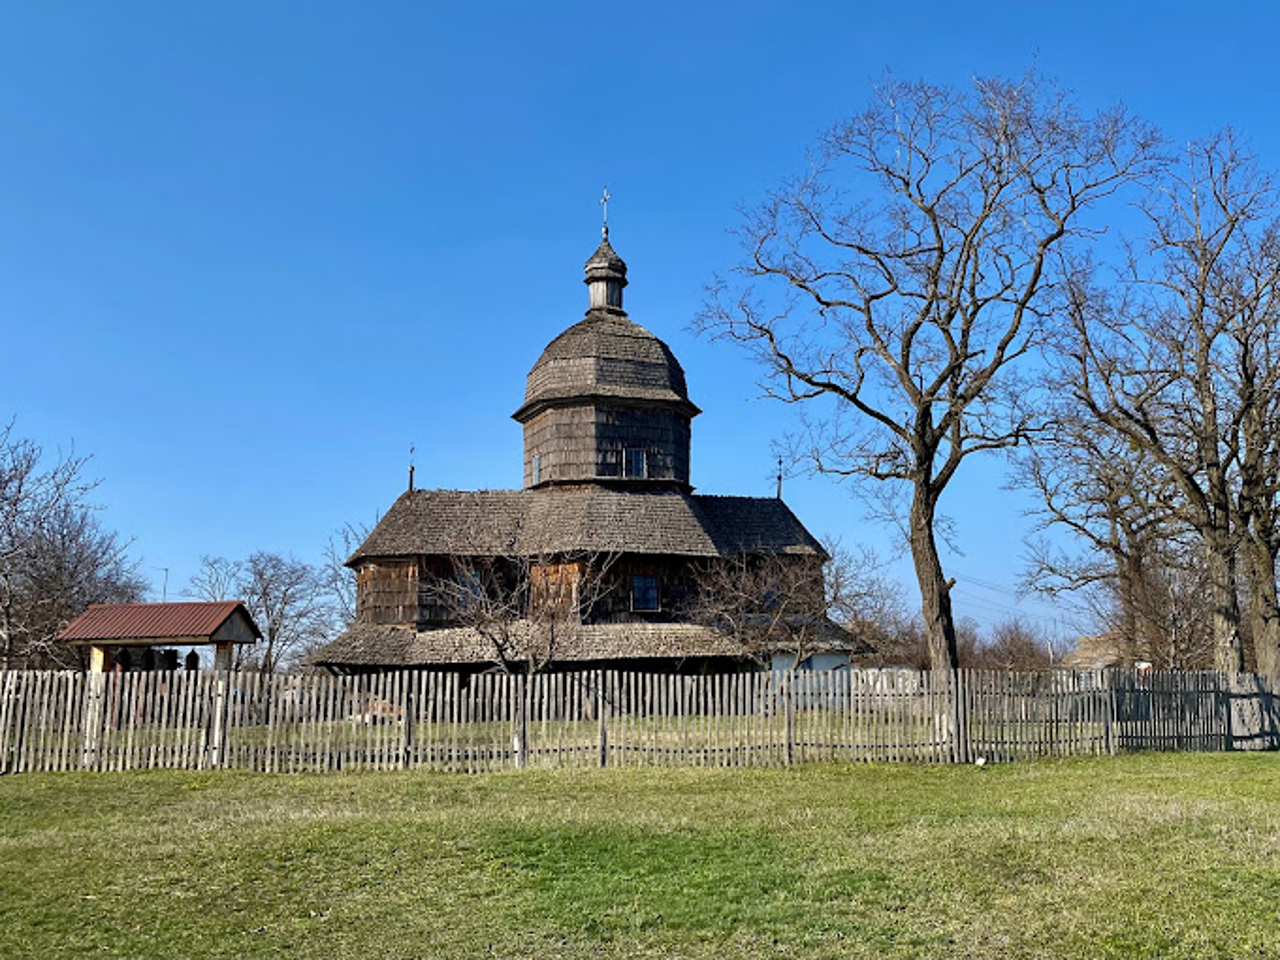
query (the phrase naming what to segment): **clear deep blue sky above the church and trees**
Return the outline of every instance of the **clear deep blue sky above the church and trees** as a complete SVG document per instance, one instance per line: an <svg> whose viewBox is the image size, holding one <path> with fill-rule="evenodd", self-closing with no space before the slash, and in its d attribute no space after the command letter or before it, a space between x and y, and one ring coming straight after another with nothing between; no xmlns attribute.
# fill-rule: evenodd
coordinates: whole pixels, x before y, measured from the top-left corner
<svg viewBox="0 0 1280 960"><path fill-rule="evenodd" d="M608 184L628 312L705 411L694 483L768 495L794 411L689 323L739 207L872 83L1036 67L1174 143L1234 124L1274 168L1277 45L1266 3L0 3L0 417L92 454L157 599L201 554L319 559L410 443L420 485L516 486L509 415L586 306ZM957 613L1052 627L1014 595L1002 476L943 500ZM786 499L893 553L846 486Z"/></svg>

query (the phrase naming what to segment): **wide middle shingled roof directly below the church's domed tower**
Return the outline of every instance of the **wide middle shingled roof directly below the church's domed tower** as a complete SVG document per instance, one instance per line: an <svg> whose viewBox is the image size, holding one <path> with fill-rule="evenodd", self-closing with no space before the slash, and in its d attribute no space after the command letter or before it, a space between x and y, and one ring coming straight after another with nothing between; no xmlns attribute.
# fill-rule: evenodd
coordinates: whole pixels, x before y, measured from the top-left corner
<svg viewBox="0 0 1280 960"><path fill-rule="evenodd" d="M600 485L410 490L347 561L406 556L639 553L826 556L780 500Z"/></svg>

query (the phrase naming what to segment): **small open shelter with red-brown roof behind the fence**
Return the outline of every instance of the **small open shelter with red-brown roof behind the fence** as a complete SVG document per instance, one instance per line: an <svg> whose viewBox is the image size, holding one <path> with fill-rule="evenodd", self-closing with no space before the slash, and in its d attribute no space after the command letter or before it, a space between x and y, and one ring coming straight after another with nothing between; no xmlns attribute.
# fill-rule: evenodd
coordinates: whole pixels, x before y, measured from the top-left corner
<svg viewBox="0 0 1280 960"><path fill-rule="evenodd" d="M90 671L95 673L148 666L175 669L178 646L212 646L214 668L230 669L234 645L261 637L239 600L95 603L58 635L65 644L90 648Z"/></svg>

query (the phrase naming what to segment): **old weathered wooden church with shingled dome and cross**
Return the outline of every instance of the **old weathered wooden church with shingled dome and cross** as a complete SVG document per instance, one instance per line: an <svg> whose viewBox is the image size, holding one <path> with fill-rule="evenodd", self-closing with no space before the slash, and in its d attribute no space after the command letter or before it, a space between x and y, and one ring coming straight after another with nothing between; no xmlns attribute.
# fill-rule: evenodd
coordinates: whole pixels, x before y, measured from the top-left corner
<svg viewBox="0 0 1280 960"><path fill-rule="evenodd" d="M667 344L622 308L627 268L607 227L585 282L586 316L543 351L513 415L524 489L411 483L347 561L356 623L311 663L735 671L767 664L768 652L748 649L732 616L708 614L718 571L803 572L820 607L826 553L780 498L694 493L699 410ZM746 620L767 618L773 591L759 593ZM847 662L849 634L818 618L814 655Z"/></svg>

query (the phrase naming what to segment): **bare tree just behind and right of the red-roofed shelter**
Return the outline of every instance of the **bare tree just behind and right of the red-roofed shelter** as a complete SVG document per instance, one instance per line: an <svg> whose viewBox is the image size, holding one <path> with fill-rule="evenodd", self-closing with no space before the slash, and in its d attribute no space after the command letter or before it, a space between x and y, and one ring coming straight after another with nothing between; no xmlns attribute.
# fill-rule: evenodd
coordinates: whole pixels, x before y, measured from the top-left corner
<svg viewBox="0 0 1280 960"><path fill-rule="evenodd" d="M337 630L323 573L310 563L259 550L244 561L201 557L184 591L205 600L243 600L262 631L252 648L237 649L237 666L255 658L274 672L298 662Z"/></svg>

